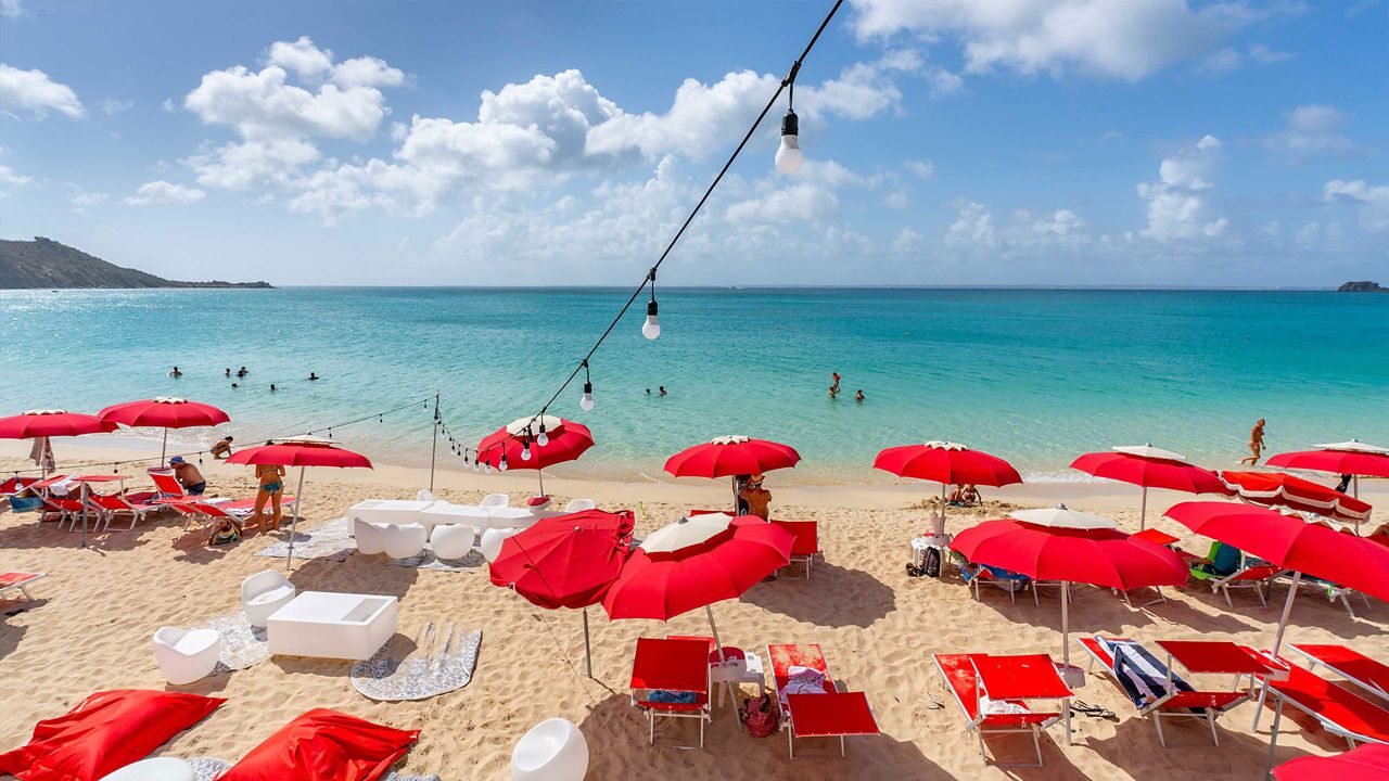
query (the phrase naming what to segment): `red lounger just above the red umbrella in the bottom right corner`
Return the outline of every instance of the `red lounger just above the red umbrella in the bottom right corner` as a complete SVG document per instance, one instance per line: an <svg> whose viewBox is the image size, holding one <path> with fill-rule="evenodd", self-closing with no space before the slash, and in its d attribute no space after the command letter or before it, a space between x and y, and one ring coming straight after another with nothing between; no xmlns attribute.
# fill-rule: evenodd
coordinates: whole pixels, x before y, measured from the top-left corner
<svg viewBox="0 0 1389 781"><path fill-rule="evenodd" d="M1389 710L1286 659L1274 660L1264 652L1240 648L1265 664L1278 664L1288 670L1286 680L1270 680L1264 684L1263 693L1271 691L1276 699L1274 725L1268 735L1267 770L1271 771L1274 766L1274 749L1278 746L1278 727L1285 703L1315 718L1332 735L1345 738L1350 748L1356 748L1356 741L1389 743Z"/></svg>

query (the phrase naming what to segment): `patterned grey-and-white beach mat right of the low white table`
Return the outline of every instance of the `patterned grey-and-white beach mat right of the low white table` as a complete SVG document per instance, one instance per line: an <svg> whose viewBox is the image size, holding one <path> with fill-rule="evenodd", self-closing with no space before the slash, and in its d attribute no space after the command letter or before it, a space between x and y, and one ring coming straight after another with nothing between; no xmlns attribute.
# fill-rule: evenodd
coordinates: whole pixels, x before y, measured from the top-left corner
<svg viewBox="0 0 1389 781"><path fill-rule="evenodd" d="M371 659L351 666L351 684L363 696L399 702L428 699L467 687L478 666L482 631L467 631L454 621L438 631L433 621L425 624L415 650L399 659L397 639L381 646Z"/></svg>

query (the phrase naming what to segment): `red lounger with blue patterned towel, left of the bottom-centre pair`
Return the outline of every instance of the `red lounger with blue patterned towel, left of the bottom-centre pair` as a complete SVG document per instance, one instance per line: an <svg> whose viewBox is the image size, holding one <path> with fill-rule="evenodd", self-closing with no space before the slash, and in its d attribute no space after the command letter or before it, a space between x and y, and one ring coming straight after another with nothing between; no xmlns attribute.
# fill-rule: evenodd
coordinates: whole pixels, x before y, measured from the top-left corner
<svg viewBox="0 0 1389 781"><path fill-rule="evenodd" d="M713 717L708 706L708 643L638 638L631 687L632 705L646 714L647 745L656 745L657 718L694 718L699 721L699 748L704 748L704 723Z"/></svg>

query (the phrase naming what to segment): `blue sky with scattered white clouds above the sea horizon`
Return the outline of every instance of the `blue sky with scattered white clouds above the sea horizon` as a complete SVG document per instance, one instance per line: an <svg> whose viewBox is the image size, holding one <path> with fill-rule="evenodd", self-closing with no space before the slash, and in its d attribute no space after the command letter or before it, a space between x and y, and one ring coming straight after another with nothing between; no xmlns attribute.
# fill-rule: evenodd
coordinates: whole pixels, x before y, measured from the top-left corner
<svg viewBox="0 0 1389 781"><path fill-rule="evenodd" d="M628 283L829 3L0 0L0 235ZM1389 4L850 0L665 283L1389 282Z"/></svg>

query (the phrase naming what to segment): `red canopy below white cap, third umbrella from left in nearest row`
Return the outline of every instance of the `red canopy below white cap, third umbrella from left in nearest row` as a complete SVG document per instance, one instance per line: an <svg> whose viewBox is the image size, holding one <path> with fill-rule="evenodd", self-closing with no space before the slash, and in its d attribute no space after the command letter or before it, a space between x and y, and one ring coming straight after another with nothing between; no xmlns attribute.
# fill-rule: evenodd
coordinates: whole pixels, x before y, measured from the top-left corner
<svg viewBox="0 0 1389 781"><path fill-rule="evenodd" d="M975 564L989 564L1042 581L1071 581L1122 591L1182 585L1181 557L1161 545L1118 529L1042 527L983 521L954 536L950 548Z"/></svg>

